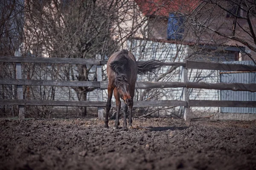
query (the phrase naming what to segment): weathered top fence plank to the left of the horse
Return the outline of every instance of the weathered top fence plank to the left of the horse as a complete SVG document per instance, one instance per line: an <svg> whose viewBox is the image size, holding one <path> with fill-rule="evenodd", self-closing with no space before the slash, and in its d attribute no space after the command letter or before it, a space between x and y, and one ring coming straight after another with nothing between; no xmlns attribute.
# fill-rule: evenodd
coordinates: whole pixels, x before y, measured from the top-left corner
<svg viewBox="0 0 256 170"><path fill-rule="evenodd" d="M81 58L46 58L46 57L0 57L0 62L27 62L27 63L52 63L52 64L91 64L99 65L99 59Z"/></svg>

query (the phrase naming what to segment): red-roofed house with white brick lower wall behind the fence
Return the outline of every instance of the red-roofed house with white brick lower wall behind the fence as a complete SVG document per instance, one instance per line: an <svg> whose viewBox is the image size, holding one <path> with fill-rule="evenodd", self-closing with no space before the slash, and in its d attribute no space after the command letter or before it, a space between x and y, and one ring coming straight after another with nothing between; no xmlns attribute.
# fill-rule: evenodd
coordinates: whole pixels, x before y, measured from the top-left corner
<svg viewBox="0 0 256 170"><path fill-rule="evenodd" d="M185 23L182 11L192 11L200 5L198 0L135 0L144 17L147 17L148 32L145 37L132 37L127 41L128 48L138 60L164 59L166 62L183 61L183 59L202 60L210 62L232 62L246 60L243 51L247 48L238 45L232 40L216 37L219 42L209 40L215 35L202 34L197 39L191 28ZM235 8L235 7L234 7ZM236 10L236 9L230 9ZM181 12L180 12L181 11ZM242 14L241 14L242 15ZM222 20L233 20L227 12ZM216 21L218 22L218 21ZM224 28L223 28L224 29ZM172 67L164 67L158 75L165 77L158 81L180 81L181 68L172 70ZM161 76L160 76L161 77ZM155 81L154 76L141 77L140 80ZM198 70L189 71L191 82L220 82L220 71ZM138 90L138 96L144 90ZM157 92L161 91L156 89ZM155 94L157 94L155 92ZM221 100L221 91L208 89L190 89L190 99ZM145 94L143 94L145 95ZM154 94L148 93L143 96L147 99ZM138 99L141 99L138 97ZM156 99L182 99L182 88L164 89ZM179 109L178 109L179 110ZM178 111L176 109L176 111ZM218 107L192 108L196 111L220 112ZM223 109L222 109L223 110Z"/></svg>

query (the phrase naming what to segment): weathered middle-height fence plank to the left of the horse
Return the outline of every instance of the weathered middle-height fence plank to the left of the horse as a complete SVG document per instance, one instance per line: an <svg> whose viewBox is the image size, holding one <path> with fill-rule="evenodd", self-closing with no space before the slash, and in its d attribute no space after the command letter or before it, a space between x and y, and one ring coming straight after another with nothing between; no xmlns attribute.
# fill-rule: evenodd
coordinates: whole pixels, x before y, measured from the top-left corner
<svg viewBox="0 0 256 170"><path fill-rule="evenodd" d="M32 79L0 79L2 85L46 85L67 87L100 87L100 82L90 81L55 81L55 80L32 80Z"/></svg>

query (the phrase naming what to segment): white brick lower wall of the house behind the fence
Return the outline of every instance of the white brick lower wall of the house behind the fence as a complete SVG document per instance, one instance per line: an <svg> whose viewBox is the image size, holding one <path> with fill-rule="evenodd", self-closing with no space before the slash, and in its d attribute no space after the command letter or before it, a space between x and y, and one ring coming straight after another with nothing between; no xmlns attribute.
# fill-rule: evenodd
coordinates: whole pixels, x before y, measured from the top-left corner
<svg viewBox="0 0 256 170"><path fill-rule="evenodd" d="M165 62L178 62L183 61L189 54L190 48L188 45L177 45L167 42L154 42L150 40L130 40L128 46L132 46L131 51L139 61L146 61L149 59L159 59ZM197 56L195 60L210 61L210 62L224 62L232 61L236 58L236 51L223 51L214 52L215 55ZM144 81L156 81L158 77L165 74L172 67L163 67L156 75L138 76L138 80ZM175 69L175 71L169 73L163 79L159 81L164 82L181 82L181 67ZM190 82L208 82L218 83L220 82L219 71L213 70L200 70L189 69L188 76ZM154 89L155 93L145 94L144 99L147 99L158 92L161 92L156 98L157 100L182 100L182 88L166 88L166 89ZM139 89L137 95L143 94L144 89ZM189 89L189 99L194 100L219 100L220 91L211 89ZM138 98L140 99L140 98ZM179 111L179 108L177 108ZM192 111L209 111L218 112L218 107L193 107Z"/></svg>

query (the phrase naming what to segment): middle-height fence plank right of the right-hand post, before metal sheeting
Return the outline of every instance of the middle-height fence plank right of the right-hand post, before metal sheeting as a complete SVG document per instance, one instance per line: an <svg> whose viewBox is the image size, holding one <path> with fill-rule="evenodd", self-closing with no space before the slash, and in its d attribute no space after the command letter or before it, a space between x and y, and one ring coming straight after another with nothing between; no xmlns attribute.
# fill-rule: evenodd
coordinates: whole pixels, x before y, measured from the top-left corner
<svg viewBox="0 0 256 170"><path fill-rule="evenodd" d="M187 82L187 88L203 88L215 90L232 90L232 91L250 91L256 92L255 83L207 83L207 82Z"/></svg>

